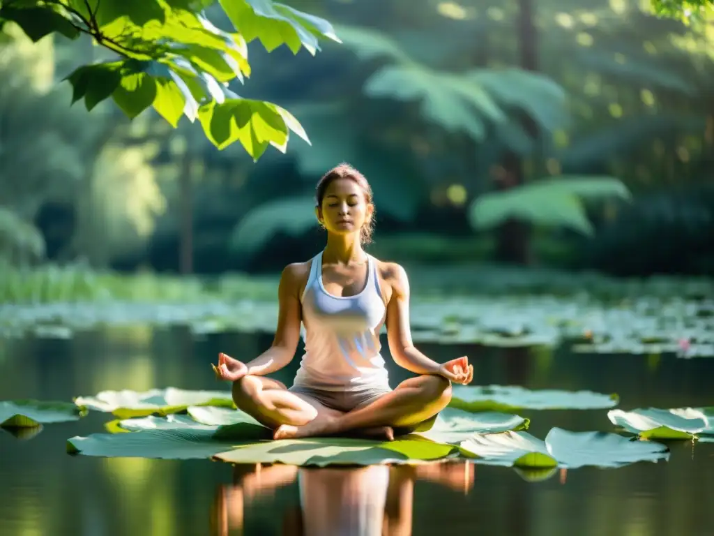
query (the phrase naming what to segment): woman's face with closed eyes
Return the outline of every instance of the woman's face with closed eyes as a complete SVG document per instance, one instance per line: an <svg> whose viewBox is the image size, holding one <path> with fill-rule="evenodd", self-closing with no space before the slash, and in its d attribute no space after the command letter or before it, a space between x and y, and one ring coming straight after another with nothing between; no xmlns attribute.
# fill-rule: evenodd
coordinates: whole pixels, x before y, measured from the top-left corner
<svg viewBox="0 0 714 536"><path fill-rule="evenodd" d="M373 209L358 184L343 178L328 184L317 216L328 232L349 234L360 231L372 217Z"/></svg>

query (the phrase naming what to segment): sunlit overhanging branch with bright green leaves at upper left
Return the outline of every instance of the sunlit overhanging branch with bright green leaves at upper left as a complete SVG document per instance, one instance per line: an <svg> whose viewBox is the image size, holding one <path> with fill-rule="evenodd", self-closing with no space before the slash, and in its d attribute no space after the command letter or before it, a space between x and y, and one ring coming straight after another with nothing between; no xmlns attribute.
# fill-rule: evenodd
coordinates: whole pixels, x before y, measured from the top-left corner
<svg viewBox="0 0 714 536"><path fill-rule="evenodd" d="M208 8L233 29L219 29ZM33 41L84 34L116 53L67 77L73 103L91 110L111 96L129 118L153 106L174 127L198 119L218 149L241 142L254 160L268 145L284 152L291 131L308 138L286 109L228 89L250 76L247 44L314 55L318 39L339 41L328 21L272 0L0 0L0 29L8 21Z"/></svg>

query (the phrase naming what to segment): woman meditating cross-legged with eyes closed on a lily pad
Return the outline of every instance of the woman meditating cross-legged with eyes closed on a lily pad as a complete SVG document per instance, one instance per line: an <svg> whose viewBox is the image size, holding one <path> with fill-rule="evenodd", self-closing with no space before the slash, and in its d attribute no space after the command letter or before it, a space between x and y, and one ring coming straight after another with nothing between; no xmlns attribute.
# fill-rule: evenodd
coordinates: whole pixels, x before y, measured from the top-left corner
<svg viewBox="0 0 714 536"><path fill-rule="evenodd" d="M236 406L276 440L348 432L393 440L395 429L428 429L451 400L451 382L471 382L473 366L467 357L438 364L414 347L406 272L363 249L374 206L362 174L347 164L332 169L317 184L316 202L327 245L283 270L272 346L248 363L219 354L213 369L233 382ZM306 352L287 389L266 374L293 359L301 322ZM383 322L396 364L418 374L396 389L379 353Z"/></svg>

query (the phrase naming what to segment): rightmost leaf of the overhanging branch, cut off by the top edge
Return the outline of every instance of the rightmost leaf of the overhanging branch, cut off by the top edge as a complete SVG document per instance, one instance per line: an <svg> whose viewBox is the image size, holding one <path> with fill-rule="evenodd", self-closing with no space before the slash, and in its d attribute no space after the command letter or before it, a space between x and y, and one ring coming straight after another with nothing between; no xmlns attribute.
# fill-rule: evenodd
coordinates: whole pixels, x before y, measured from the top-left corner
<svg viewBox="0 0 714 536"><path fill-rule="evenodd" d="M318 38L339 42L328 21L272 0L220 0L220 4L246 41L258 39L268 52L285 44L293 54L304 46L314 55L320 49Z"/></svg>

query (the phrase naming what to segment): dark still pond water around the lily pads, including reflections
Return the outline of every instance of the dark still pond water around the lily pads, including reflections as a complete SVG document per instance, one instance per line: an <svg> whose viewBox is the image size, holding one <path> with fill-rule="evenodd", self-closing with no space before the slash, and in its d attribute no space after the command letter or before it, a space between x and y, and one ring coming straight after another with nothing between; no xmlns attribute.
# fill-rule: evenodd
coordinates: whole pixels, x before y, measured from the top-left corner
<svg viewBox="0 0 714 536"><path fill-rule="evenodd" d="M257 334L195 338L173 328L0 342L0 399L216 389L209 362L218 352L251 359L270 342ZM617 392L623 409L714 405L714 359L420 348L438 361L468 354L476 384ZM393 384L408 377L389 363ZM276 377L289 383L296 365ZM610 430L600 410L521 415L541 438L553 426ZM67 438L103 432L109 418L91 413L26 440L0 432L1 536L714 534L714 444L673 443L669 462L540 478L471 464L297 470L65 453Z"/></svg>

